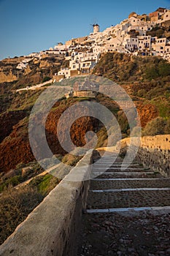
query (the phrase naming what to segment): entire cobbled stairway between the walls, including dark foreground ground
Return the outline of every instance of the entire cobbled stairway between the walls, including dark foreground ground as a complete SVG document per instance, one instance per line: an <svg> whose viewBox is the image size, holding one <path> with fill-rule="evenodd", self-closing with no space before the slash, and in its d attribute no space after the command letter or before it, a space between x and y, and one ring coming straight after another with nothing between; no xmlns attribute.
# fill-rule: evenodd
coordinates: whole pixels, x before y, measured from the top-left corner
<svg viewBox="0 0 170 256"><path fill-rule="evenodd" d="M135 160L121 170L123 159L113 158L92 170L78 256L170 255L170 178Z"/></svg>

